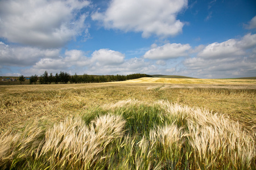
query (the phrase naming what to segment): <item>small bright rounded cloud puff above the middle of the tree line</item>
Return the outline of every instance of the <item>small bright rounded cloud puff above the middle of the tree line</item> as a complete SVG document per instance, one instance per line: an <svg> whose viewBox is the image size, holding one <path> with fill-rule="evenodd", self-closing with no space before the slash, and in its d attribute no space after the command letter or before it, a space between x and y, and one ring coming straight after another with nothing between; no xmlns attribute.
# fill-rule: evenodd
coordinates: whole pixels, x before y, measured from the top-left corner
<svg viewBox="0 0 256 170"><path fill-rule="evenodd" d="M96 50L92 54L92 62L96 62L97 66L119 65L124 59L124 54L109 49Z"/></svg>

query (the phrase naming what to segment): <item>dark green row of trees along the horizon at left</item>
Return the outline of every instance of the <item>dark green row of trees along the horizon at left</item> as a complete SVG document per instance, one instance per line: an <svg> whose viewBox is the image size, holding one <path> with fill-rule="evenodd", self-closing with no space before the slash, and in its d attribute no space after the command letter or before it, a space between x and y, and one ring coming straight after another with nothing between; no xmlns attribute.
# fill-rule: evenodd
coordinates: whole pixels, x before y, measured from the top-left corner
<svg viewBox="0 0 256 170"><path fill-rule="evenodd" d="M69 83L103 83L103 82L115 82L115 81L125 81L130 79L138 79L142 77L151 77L151 75L147 74L129 74L129 75L70 75L68 73L64 73L60 71L60 73L56 73L53 75L52 73L48 74L47 71L44 72L41 76L31 75L30 76L30 84L67 84ZM23 75L19 76L20 84L24 82L25 78Z"/></svg>

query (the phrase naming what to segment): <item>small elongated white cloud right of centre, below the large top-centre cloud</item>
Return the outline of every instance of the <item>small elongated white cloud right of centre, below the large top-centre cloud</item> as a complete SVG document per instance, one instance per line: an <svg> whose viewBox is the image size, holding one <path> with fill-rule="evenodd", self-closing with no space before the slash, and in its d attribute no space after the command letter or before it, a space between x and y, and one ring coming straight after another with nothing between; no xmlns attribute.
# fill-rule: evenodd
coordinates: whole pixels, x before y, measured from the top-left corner
<svg viewBox="0 0 256 170"><path fill-rule="evenodd" d="M148 50L144 54L144 58L148 59L169 59L188 56L188 50L191 49L189 44L170 44L158 46Z"/></svg>

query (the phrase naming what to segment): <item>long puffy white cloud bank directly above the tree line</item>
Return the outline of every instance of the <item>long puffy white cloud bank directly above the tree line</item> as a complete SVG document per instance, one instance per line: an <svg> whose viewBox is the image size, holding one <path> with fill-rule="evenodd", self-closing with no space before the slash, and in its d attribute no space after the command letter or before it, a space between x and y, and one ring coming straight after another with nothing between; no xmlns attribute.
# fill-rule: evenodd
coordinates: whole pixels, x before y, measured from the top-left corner
<svg viewBox="0 0 256 170"><path fill-rule="evenodd" d="M22 71L22 74L59 73L67 71L70 74L133 74L154 73L157 67L143 58L125 59L125 55L110 49L99 49L86 57L81 50L66 50L59 58L42 58L30 69Z"/></svg>

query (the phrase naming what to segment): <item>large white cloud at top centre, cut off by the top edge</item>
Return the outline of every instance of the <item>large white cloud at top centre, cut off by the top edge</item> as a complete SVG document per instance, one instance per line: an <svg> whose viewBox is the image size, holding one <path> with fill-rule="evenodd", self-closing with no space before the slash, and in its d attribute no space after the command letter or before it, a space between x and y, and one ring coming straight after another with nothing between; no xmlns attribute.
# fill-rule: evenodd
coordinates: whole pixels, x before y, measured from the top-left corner
<svg viewBox="0 0 256 170"><path fill-rule="evenodd" d="M184 26L176 16L187 6L187 0L112 0L105 12L94 12L92 19L105 28L142 32L142 37L175 36Z"/></svg>

